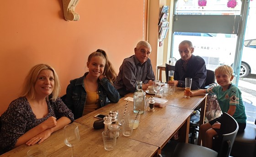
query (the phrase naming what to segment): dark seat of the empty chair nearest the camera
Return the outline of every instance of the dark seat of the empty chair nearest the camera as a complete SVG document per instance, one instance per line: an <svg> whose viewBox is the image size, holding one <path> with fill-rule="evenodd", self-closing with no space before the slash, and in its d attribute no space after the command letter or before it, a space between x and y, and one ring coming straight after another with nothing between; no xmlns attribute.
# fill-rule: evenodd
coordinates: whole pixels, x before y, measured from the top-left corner
<svg viewBox="0 0 256 157"><path fill-rule="evenodd" d="M217 157L218 152L190 143L178 143L172 157Z"/></svg>

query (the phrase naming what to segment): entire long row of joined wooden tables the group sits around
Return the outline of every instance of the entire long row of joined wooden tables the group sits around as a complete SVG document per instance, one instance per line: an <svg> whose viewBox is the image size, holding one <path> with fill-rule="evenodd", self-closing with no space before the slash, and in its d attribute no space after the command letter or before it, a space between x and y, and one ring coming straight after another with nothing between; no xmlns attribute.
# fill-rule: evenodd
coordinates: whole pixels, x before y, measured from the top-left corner
<svg viewBox="0 0 256 157"><path fill-rule="evenodd" d="M73 122L79 126L80 131L80 142L74 147L75 157L156 157L178 130L180 131L179 141L188 142L190 115L197 106L205 107L206 96L185 99L183 93L184 88L176 87L175 94L165 97L168 100L166 107L155 107L154 112L145 110L144 114L140 116L139 127L134 129L133 134L129 137L124 137L120 133L116 147L112 151L104 149L101 137L101 132L104 129L93 128L94 121L98 120L94 116L96 114L107 115L109 111L118 111L123 115L127 102L126 114L133 112L133 102L124 100L128 96L133 97L133 93L129 93L117 103L108 104L80 117ZM147 94L146 96L150 97L151 95ZM27 146L24 144L0 157L27 157L27 151L33 147L45 148L48 152L47 157L71 156L71 148L64 144L63 134L64 130L61 129L53 132L47 140L39 145Z"/></svg>

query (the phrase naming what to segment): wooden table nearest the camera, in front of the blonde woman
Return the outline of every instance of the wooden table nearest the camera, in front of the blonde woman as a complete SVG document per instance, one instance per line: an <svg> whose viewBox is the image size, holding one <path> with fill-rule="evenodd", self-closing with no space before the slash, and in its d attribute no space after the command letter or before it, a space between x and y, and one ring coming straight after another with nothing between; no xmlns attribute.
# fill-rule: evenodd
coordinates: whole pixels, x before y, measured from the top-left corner
<svg viewBox="0 0 256 157"><path fill-rule="evenodd" d="M80 132L80 142L74 147L75 157L156 157L158 147L130 138L118 137L116 147L112 151L104 149L101 132L76 122ZM0 157L27 157L27 151L33 147L43 147L47 157L70 157L71 148L64 144L64 129L61 129L41 144L33 146L21 145L6 152Z"/></svg>

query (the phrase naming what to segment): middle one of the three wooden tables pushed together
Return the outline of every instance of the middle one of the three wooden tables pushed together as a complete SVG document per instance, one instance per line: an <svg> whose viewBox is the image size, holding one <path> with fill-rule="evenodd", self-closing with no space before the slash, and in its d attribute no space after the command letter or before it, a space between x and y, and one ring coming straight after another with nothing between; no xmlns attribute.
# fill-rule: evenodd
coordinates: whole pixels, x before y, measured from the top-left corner
<svg viewBox="0 0 256 157"><path fill-rule="evenodd" d="M132 94L128 94L127 96L132 96ZM96 111L80 117L75 120L75 122L92 127L93 122L97 120L94 118L96 114L101 113L107 115L109 111L117 110L119 113L123 114L126 103L127 101L124 101L122 98L118 103L101 107ZM128 101L127 111L133 111L132 101ZM192 111L193 110L170 105L164 108L156 107L154 112L145 111L144 114L140 115L139 127L134 129L132 136L127 138L157 146L159 147L158 153L161 153L161 149L179 129L181 134L179 140L188 142L189 121ZM122 134L120 135L123 136Z"/></svg>

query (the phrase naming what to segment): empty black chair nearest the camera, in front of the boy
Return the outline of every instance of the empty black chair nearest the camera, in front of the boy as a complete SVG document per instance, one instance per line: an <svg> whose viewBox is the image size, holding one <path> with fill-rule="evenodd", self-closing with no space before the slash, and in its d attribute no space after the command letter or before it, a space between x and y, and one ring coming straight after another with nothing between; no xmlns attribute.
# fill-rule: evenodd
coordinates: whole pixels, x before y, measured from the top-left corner
<svg viewBox="0 0 256 157"><path fill-rule="evenodd" d="M220 127L219 135L221 140L220 150L216 152L207 147L198 146L190 143L178 143L173 152L173 157L229 157L231 148L233 146L235 136L238 131L238 123L235 119L227 114L223 113L223 122Z"/></svg>

